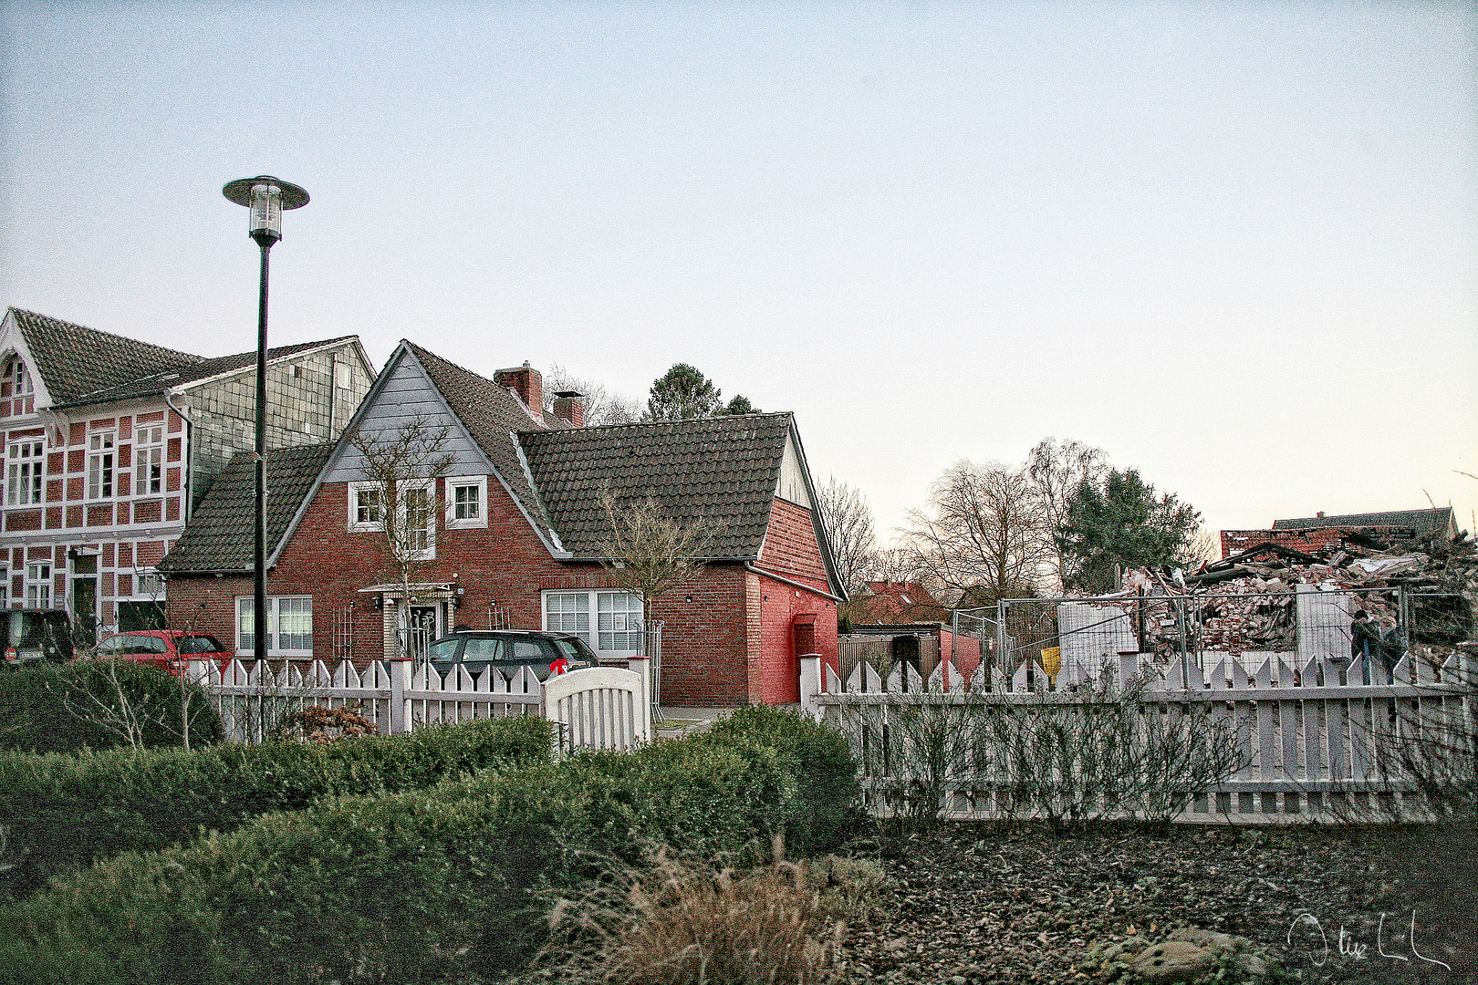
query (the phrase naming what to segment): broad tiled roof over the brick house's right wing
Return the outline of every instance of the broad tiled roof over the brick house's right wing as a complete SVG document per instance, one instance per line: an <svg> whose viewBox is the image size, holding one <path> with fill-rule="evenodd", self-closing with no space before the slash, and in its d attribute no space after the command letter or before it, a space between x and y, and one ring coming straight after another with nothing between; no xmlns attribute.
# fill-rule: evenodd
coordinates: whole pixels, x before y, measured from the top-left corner
<svg viewBox="0 0 1478 985"><path fill-rule="evenodd" d="M755 560L779 483L789 413L745 413L671 424L612 424L519 436L548 518L575 557L596 557L616 502L655 499L680 521L715 535L705 557Z"/></svg>

